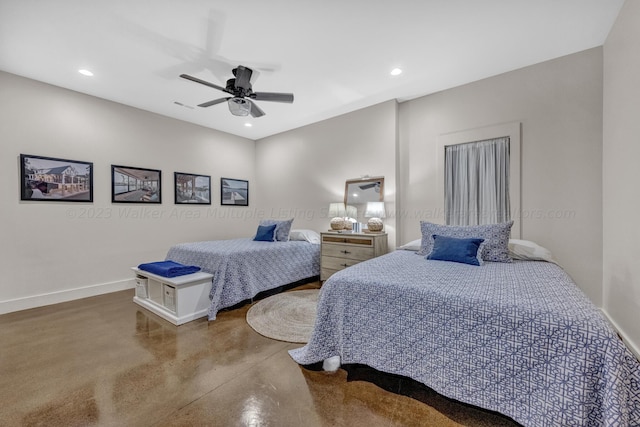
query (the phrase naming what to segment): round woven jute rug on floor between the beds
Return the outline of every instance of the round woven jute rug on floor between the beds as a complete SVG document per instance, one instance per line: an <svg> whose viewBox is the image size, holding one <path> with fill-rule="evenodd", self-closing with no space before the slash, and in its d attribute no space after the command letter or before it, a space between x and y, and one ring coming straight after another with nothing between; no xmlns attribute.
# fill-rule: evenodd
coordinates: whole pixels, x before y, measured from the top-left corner
<svg viewBox="0 0 640 427"><path fill-rule="evenodd" d="M272 295L249 308L247 323L267 338L305 344L316 320L319 293L305 289Z"/></svg>

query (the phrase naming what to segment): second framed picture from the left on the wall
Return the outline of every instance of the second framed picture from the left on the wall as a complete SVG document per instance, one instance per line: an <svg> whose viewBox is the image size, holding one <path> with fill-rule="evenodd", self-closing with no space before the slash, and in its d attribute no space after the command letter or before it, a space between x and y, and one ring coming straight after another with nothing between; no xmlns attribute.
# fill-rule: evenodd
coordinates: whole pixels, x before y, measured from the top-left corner
<svg viewBox="0 0 640 427"><path fill-rule="evenodd" d="M162 172L111 165L112 203L162 203Z"/></svg>

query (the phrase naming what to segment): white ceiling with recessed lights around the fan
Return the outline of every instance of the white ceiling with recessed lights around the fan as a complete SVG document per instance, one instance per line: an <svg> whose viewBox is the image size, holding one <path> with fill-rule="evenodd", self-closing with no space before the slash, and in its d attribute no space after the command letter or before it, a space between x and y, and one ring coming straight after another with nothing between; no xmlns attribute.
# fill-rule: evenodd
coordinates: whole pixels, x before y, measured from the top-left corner
<svg viewBox="0 0 640 427"><path fill-rule="evenodd" d="M259 139L601 46L623 2L0 0L0 70ZM240 64L295 102L236 117L178 77L225 86Z"/></svg>

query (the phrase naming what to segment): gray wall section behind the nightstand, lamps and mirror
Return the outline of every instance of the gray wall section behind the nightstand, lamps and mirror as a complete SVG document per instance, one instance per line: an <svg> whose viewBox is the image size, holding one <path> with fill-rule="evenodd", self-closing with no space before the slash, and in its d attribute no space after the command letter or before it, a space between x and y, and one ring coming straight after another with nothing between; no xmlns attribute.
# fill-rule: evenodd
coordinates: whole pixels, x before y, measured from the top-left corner
<svg viewBox="0 0 640 427"><path fill-rule="evenodd" d="M329 203L344 199L345 181L384 176L385 207L395 210L395 101L364 108L256 142L258 203L294 228L329 228ZM361 222L366 222L360 210ZM396 221L385 219L395 247Z"/></svg>

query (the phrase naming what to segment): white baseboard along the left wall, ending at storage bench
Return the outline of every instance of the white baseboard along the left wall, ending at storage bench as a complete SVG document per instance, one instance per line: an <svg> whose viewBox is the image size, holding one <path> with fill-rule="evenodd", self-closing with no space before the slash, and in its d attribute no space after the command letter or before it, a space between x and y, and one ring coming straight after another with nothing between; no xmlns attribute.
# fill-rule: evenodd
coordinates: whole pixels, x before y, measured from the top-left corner
<svg viewBox="0 0 640 427"><path fill-rule="evenodd" d="M66 289L64 291L0 301L0 314L43 307L45 305L58 304L66 301L123 291L125 289L133 289L135 288L135 285L136 282L134 279L126 279L119 280L117 282L102 283L99 285L90 285L82 288Z"/></svg>

